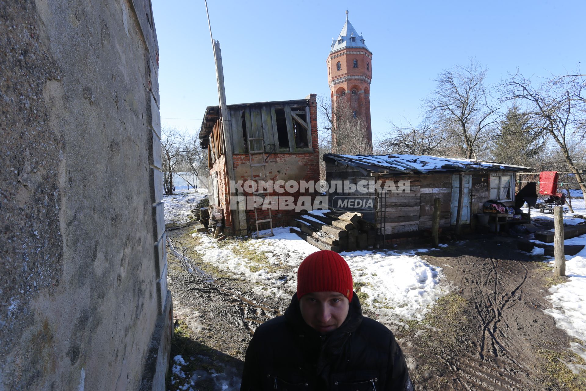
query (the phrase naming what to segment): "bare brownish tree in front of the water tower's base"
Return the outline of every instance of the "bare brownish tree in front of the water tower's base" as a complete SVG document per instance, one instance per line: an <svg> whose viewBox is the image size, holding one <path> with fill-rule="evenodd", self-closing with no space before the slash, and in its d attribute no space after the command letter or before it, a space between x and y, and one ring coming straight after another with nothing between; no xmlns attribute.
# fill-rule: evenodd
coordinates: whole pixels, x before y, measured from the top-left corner
<svg viewBox="0 0 586 391"><path fill-rule="evenodd" d="M331 150L340 155L372 154L367 137L366 118L356 115L346 99L340 98L332 104L328 98L318 101L322 117L321 132L331 137Z"/></svg>

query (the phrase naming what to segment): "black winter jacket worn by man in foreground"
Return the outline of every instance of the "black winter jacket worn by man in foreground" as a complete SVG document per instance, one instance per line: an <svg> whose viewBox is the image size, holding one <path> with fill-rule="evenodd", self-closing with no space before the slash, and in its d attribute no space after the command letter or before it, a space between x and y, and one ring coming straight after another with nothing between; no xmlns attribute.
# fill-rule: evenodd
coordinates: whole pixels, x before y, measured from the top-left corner
<svg viewBox="0 0 586 391"><path fill-rule="evenodd" d="M354 294L346 320L321 335L301 317L297 295L285 316L254 332L240 391L413 391L393 333L362 316Z"/></svg>

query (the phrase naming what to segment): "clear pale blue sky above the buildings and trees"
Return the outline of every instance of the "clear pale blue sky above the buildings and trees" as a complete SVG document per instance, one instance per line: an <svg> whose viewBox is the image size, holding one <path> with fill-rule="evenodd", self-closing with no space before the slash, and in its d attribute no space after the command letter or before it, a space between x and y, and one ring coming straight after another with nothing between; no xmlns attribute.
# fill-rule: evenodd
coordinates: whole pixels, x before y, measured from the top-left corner
<svg viewBox="0 0 586 391"><path fill-rule="evenodd" d="M348 9L373 53L375 139L384 137L389 121L404 116L417 123L437 75L470 57L498 83L517 68L533 77L563 74L586 53L585 0L209 0L208 6L222 45L228 104L328 96L326 59ZM152 0L152 8L162 125L196 131L206 106L218 104L204 1Z"/></svg>

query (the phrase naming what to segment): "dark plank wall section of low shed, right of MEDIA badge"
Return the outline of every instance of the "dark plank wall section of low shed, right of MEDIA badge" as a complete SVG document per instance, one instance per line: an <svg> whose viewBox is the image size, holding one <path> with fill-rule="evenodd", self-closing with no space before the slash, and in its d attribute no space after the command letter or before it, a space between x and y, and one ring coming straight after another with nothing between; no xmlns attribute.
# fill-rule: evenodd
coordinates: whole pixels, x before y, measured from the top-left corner
<svg viewBox="0 0 586 391"><path fill-rule="evenodd" d="M387 181L394 181L398 187L399 181L410 181L409 192L387 192L381 195L381 208L377 211L377 233L395 234L413 232L420 229L421 213L421 182L420 175L405 175L394 178L381 179L381 188ZM381 222L382 216L382 222Z"/></svg>

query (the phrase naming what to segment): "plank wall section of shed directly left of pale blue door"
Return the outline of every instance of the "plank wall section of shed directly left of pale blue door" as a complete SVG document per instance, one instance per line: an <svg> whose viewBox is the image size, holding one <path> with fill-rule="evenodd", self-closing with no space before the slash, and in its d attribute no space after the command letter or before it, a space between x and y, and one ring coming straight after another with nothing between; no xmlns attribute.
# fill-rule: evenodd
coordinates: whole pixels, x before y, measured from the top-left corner
<svg viewBox="0 0 586 391"><path fill-rule="evenodd" d="M449 227L452 201L452 174L421 175L421 210L419 229L431 229L434 213L434 199L441 199L440 227Z"/></svg>

